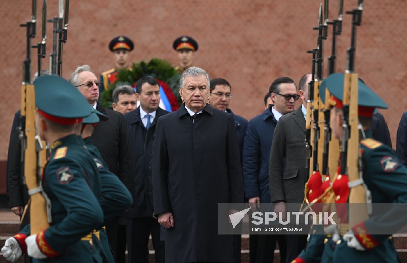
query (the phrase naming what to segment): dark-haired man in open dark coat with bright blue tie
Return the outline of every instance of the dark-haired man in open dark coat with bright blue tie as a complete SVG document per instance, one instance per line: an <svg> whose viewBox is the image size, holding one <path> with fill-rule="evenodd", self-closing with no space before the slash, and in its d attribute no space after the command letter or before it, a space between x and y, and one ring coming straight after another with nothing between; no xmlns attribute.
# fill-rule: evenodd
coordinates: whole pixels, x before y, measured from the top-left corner
<svg viewBox="0 0 407 263"><path fill-rule="evenodd" d="M153 193L150 161L157 119L169 112L158 107L160 84L153 77L142 77L136 84L136 98L140 107L124 115L129 130L133 158L136 197L134 206L124 217L127 229L128 262L149 262L148 242L155 250L155 262L164 263L164 241L160 241L160 224L153 218Z"/></svg>

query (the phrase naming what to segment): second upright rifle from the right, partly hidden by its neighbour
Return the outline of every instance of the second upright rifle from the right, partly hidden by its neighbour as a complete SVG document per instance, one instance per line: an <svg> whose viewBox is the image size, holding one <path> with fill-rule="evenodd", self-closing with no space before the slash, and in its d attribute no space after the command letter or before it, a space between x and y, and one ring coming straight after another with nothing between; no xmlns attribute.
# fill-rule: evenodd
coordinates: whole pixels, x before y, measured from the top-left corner
<svg viewBox="0 0 407 263"><path fill-rule="evenodd" d="M327 24L332 25L332 50L331 55L328 57L328 76L335 73L336 70L336 39L338 35L342 32L342 19L343 19L343 5L344 1L339 0L339 13L338 19L334 19L332 22L327 22ZM325 98L321 98L325 101L324 109L324 151L322 157L322 175L329 175L332 181L336 168L339 162L339 140L337 138L332 138L332 131L330 128L330 105L331 94L328 88L325 89Z"/></svg>

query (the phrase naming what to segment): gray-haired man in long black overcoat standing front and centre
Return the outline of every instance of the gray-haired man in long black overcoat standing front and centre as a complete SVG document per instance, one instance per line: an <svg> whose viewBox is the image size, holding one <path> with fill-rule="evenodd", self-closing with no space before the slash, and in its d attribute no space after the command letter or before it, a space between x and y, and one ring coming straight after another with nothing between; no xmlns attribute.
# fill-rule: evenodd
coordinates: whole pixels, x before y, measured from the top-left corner
<svg viewBox="0 0 407 263"><path fill-rule="evenodd" d="M243 202L239 144L232 114L208 104L201 68L179 80L185 101L158 118L153 143L153 202L165 228L166 263L233 262L232 235L218 235L218 203Z"/></svg>

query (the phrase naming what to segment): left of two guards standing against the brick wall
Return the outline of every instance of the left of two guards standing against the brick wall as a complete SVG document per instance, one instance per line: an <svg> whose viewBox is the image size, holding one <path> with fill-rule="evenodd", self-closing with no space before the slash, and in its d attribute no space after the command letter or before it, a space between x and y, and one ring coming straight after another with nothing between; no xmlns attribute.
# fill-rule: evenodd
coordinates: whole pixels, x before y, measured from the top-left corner
<svg viewBox="0 0 407 263"><path fill-rule="evenodd" d="M109 49L114 53L115 66L101 74L99 86L99 98L104 90L109 89L109 85L116 81L117 71L129 67L129 52L133 50L134 44L128 37L118 36L112 39Z"/></svg>

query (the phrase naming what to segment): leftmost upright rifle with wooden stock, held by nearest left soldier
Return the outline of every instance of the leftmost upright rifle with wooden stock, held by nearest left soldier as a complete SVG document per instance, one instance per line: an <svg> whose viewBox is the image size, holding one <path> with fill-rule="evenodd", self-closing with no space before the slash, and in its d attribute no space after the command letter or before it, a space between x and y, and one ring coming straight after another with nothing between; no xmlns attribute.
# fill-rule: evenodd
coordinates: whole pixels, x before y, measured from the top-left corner
<svg viewBox="0 0 407 263"><path fill-rule="evenodd" d="M21 87L21 126L19 138L21 140L21 154L24 162L24 177L30 194L31 234L36 234L48 227L46 200L42 195L40 184L41 164L40 155L44 156L44 147L36 134L35 125L35 93L31 82L31 38L35 37L35 19L37 2L33 0L32 21L20 26L27 28L26 59L23 67L23 82ZM40 153L42 151L42 153ZM43 162L45 160L42 160ZM24 211L25 215L25 211Z"/></svg>

